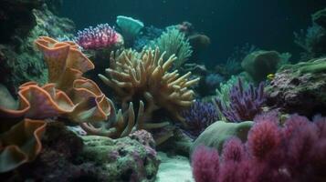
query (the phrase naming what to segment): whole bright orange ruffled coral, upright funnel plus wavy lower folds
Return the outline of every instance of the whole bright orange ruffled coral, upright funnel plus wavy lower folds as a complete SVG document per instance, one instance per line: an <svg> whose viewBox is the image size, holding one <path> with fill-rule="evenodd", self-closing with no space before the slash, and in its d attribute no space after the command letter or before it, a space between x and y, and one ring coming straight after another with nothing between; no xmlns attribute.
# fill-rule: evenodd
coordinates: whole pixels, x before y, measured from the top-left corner
<svg viewBox="0 0 326 182"><path fill-rule="evenodd" d="M58 42L47 36L36 40L48 68L48 83L27 82L19 87L16 109L0 106L0 116L47 118L66 116L75 122L106 120L110 115L108 98L95 82L82 77L94 68L72 42Z"/></svg>

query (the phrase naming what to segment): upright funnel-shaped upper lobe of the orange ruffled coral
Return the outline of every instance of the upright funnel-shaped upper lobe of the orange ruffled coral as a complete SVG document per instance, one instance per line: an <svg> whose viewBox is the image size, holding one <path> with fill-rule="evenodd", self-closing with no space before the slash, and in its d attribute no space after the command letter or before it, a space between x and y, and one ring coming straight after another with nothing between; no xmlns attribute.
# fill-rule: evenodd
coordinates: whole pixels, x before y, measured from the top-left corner
<svg viewBox="0 0 326 182"><path fill-rule="evenodd" d="M35 44L43 53L47 62L48 82L56 83L57 88L68 91L74 80L91 69L94 65L83 55L73 42L58 42L47 36L40 36Z"/></svg>

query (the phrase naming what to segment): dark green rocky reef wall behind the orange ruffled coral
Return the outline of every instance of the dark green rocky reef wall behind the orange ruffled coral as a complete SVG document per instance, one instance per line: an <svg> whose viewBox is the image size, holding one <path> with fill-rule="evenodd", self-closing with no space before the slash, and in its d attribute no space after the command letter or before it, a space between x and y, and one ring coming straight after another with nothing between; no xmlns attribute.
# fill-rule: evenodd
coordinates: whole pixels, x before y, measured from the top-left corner
<svg viewBox="0 0 326 182"><path fill-rule="evenodd" d="M0 82L12 92L26 81L45 83L47 69L34 40L40 35L72 37L74 23L54 15L41 0L5 0L0 7Z"/></svg>

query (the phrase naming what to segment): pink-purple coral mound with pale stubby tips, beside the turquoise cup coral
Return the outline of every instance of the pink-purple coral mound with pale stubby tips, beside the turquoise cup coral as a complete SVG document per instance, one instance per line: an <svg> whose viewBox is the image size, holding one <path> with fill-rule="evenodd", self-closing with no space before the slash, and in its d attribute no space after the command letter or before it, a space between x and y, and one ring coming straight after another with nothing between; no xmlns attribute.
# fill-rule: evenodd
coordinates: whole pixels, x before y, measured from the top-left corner
<svg viewBox="0 0 326 182"><path fill-rule="evenodd" d="M75 42L84 49L99 49L123 44L123 39L110 25L100 24L79 31Z"/></svg>

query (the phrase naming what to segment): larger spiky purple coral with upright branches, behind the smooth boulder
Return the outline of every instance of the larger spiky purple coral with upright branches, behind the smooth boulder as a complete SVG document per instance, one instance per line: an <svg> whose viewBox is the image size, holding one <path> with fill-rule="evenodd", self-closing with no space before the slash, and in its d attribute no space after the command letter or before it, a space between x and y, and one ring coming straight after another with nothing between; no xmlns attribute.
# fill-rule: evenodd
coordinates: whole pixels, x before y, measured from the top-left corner
<svg viewBox="0 0 326 182"><path fill-rule="evenodd" d="M241 122L252 120L262 111L262 106L266 100L264 93L264 83L260 83L257 88L249 84L247 89L242 85L239 78L237 85L230 90L230 106L225 106L219 98L216 98L216 105L228 121Z"/></svg>

